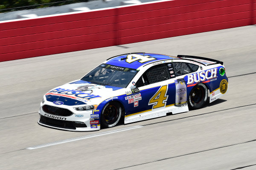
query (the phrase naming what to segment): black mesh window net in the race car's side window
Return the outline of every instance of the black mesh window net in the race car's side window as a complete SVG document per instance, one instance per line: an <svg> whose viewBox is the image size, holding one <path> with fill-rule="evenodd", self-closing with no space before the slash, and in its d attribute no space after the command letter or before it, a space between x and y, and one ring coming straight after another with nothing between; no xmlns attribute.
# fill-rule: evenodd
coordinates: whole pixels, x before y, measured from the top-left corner
<svg viewBox="0 0 256 170"><path fill-rule="evenodd" d="M146 72L149 84L165 81L170 78L166 64L152 67Z"/></svg>

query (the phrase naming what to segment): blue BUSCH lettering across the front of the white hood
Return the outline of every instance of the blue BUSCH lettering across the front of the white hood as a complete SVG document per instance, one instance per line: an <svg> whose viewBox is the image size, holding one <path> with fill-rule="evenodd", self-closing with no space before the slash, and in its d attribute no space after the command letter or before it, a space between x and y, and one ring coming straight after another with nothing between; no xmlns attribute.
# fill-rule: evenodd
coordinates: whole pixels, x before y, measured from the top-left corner
<svg viewBox="0 0 256 170"><path fill-rule="evenodd" d="M50 92L48 92L46 95L60 95L64 97L74 98L74 99L84 99L84 100L90 100L93 98L101 98L99 95L92 95L90 93L84 93L79 90L70 90L70 89L62 89L57 88Z"/></svg>

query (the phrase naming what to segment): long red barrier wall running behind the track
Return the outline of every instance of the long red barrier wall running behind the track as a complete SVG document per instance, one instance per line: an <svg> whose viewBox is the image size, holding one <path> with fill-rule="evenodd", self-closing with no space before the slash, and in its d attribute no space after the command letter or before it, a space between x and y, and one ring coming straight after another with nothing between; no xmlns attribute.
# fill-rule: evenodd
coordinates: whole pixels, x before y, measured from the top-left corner
<svg viewBox="0 0 256 170"><path fill-rule="evenodd" d="M0 23L0 61L256 24L256 0L171 0Z"/></svg>

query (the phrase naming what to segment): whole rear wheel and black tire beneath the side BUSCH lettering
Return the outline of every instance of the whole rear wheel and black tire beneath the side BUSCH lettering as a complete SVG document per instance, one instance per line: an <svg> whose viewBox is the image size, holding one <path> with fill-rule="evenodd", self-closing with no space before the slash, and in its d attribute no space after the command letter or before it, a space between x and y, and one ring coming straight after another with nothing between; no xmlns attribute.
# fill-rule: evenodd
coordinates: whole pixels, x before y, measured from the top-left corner
<svg viewBox="0 0 256 170"><path fill-rule="evenodd" d="M207 87L202 83L198 83L189 94L189 109L200 109L207 103L207 98Z"/></svg>

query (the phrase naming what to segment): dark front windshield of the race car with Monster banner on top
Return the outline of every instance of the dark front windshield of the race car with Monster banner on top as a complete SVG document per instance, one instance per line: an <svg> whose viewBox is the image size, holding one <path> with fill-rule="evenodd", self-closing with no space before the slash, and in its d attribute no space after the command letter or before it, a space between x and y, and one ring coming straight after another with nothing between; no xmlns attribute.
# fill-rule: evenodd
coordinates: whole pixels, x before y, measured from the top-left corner
<svg viewBox="0 0 256 170"><path fill-rule="evenodd" d="M103 63L81 78L81 80L96 84L126 88L137 72L138 70L136 69Z"/></svg>

